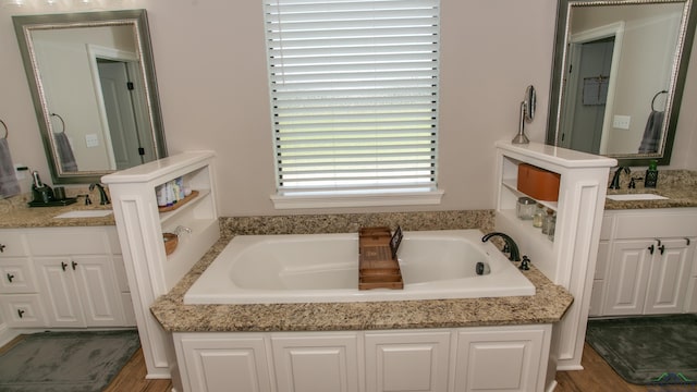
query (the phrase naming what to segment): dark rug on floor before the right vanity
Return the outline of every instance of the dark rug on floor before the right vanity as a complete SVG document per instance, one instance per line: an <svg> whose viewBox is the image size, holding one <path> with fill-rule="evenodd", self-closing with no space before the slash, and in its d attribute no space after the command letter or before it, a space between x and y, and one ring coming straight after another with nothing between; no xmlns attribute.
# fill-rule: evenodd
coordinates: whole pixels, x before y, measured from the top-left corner
<svg viewBox="0 0 697 392"><path fill-rule="evenodd" d="M590 320L586 341L627 382L697 385L697 315Z"/></svg>

